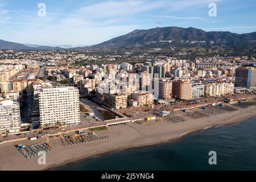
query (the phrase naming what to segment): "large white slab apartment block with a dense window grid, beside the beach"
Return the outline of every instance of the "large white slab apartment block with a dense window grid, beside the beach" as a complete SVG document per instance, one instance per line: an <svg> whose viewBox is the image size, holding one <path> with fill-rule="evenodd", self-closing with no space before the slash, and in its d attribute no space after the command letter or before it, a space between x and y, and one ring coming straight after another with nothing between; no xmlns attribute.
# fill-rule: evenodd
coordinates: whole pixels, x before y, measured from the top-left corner
<svg viewBox="0 0 256 182"><path fill-rule="evenodd" d="M40 126L56 122L77 125L80 122L79 90L73 87L39 90Z"/></svg>

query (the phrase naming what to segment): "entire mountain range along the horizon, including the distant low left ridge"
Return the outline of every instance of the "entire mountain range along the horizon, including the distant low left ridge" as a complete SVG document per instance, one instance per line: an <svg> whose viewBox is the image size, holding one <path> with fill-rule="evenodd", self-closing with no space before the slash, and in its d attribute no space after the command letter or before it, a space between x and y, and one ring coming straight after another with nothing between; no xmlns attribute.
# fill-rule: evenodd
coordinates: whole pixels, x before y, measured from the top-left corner
<svg viewBox="0 0 256 182"><path fill-rule="evenodd" d="M250 49L254 51L256 49L256 32L236 34L228 31L207 32L193 27L156 27L148 30L134 30L129 34L118 36L117 38L110 39L106 42L90 46L89 48L122 48L138 45L145 48L198 46L212 48L213 46L221 46L234 49ZM73 49L70 45L51 47L0 40L0 49L52 50L67 48Z"/></svg>

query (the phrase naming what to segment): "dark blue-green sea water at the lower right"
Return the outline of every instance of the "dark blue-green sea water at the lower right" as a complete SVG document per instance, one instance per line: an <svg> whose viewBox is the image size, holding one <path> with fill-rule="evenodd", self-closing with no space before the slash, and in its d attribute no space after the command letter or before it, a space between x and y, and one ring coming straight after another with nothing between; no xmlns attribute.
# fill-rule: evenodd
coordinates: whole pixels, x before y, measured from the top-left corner
<svg viewBox="0 0 256 182"><path fill-rule="evenodd" d="M209 164L209 151L216 151L216 165ZM53 170L256 170L256 118L164 144L94 156Z"/></svg>

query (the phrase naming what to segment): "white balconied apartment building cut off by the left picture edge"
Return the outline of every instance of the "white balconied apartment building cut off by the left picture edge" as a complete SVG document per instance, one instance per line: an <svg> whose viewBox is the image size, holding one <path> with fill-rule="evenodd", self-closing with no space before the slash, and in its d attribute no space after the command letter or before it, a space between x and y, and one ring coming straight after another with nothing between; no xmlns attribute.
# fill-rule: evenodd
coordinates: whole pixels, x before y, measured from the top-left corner
<svg viewBox="0 0 256 182"><path fill-rule="evenodd" d="M12 99L0 100L0 134L20 131L19 102Z"/></svg>

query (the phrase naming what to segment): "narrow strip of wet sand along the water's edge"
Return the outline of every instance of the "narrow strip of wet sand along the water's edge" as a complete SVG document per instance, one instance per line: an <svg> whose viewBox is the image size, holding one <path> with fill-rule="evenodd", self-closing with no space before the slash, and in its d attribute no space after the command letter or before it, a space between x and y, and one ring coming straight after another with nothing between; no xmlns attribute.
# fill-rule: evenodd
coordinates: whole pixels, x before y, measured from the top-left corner
<svg viewBox="0 0 256 182"><path fill-rule="evenodd" d="M212 125L212 126L207 126L207 127L204 127L203 129L198 129L198 130L193 130L193 131L188 131L187 133L184 133L180 136L177 136L177 137L174 137L170 140L167 140L167 141L162 141L162 142L156 142L156 143L145 143L145 144L142 144L141 146L131 146L131 147L127 147L127 148L122 148L120 150L112 150L112 151L102 151L102 152L99 152L98 154L95 154L95 155L84 155L84 156L81 156L80 158L78 159L71 159L70 161L66 161L66 162L63 162L63 164L56 164L51 167L47 167L46 169L43 169L43 171L52 171L53 169L55 168L58 168L58 167L61 167L61 166L66 166L68 164L72 164L72 163L78 163L78 162L81 162L82 160L86 160L86 159L90 159L90 158L93 158L93 157L96 157L96 156L101 156L101 155L105 155L105 154L113 154L114 152L120 152L120 151L124 151L124 150L136 150L136 149L139 149L139 148L143 148L143 147L150 147L150 146L156 146L156 145L160 145L160 144L165 144L165 143L168 143L168 142L176 142L180 139L182 139L183 137L186 137L190 134L193 134L193 133L197 133L197 132L200 132L200 131L204 131L204 130L208 130L208 129L213 129L214 127L216 126L231 126L231 125L234 125L234 124L238 124L238 123L243 123L243 122L247 122L248 119L251 119L251 118L254 118L256 117L256 113L254 115L250 115L248 117L246 117L245 119L241 120L241 121L237 121L237 122L230 122L230 123L224 123L222 125Z"/></svg>

